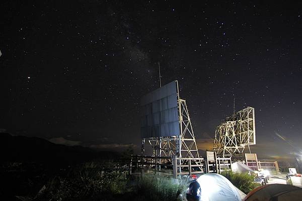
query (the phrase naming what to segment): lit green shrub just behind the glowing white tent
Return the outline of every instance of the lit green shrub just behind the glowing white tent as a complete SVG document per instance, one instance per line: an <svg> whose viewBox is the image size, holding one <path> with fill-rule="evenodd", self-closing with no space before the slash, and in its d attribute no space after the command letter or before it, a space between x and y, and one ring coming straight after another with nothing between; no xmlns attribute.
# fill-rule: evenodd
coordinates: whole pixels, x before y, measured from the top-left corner
<svg viewBox="0 0 302 201"><path fill-rule="evenodd" d="M254 182L254 176L248 173L237 173L233 171L223 171L221 175L228 178L233 185L238 187L241 191L248 194L254 188L260 186L260 184Z"/></svg>

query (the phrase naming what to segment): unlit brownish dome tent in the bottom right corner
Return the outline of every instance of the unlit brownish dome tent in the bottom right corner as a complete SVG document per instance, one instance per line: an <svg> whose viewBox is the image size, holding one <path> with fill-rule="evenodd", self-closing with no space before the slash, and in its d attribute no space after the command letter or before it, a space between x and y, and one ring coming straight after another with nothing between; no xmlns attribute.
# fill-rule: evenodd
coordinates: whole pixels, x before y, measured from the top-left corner
<svg viewBox="0 0 302 201"><path fill-rule="evenodd" d="M302 188L286 184L267 184L255 188L244 201L299 201Z"/></svg>

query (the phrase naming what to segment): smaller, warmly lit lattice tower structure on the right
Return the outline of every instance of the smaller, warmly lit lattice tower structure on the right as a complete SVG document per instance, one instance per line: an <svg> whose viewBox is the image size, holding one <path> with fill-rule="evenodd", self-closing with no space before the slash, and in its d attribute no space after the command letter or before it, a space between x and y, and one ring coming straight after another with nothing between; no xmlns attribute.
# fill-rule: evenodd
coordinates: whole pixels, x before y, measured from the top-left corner
<svg viewBox="0 0 302 201"><path fill-rule="evenodd" d="M255 109L247 107L226 118L215 131L213 150L218 156L241 157L245 147L256 144Z"/></svg>

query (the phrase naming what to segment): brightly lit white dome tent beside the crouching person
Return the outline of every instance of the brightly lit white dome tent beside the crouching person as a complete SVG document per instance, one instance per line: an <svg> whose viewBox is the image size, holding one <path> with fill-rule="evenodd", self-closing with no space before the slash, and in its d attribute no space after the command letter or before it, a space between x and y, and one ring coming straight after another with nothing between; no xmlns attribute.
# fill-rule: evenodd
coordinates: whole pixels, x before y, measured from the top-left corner
<svg viewBox="0 0 302 201"><path fill-rule="evenodd" d="M237 188L227 178L220 174L208 173L201 175L200 201L241 201Z"/></svg>

